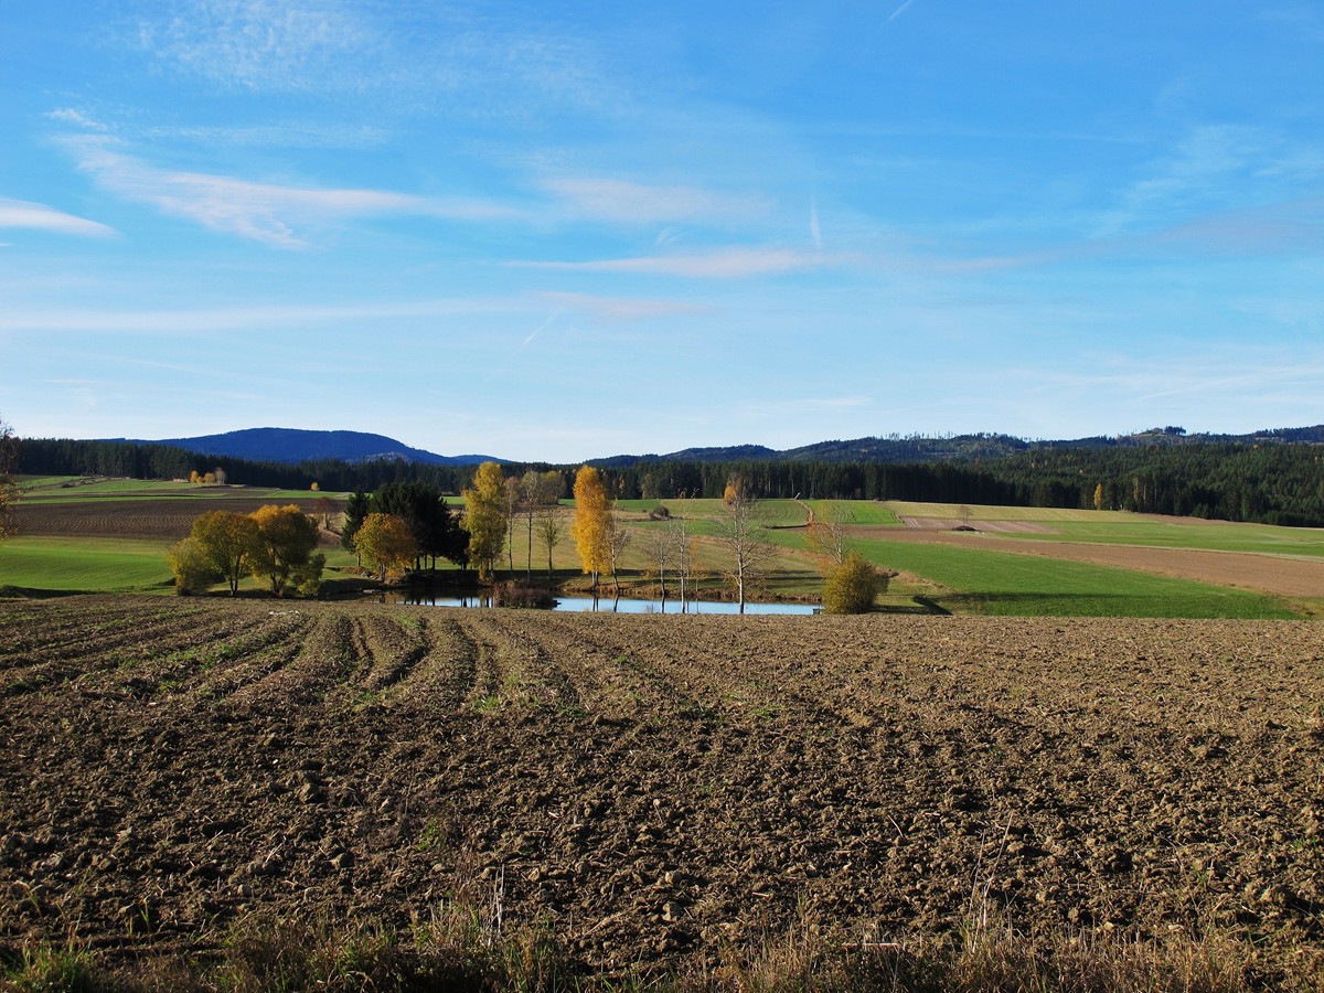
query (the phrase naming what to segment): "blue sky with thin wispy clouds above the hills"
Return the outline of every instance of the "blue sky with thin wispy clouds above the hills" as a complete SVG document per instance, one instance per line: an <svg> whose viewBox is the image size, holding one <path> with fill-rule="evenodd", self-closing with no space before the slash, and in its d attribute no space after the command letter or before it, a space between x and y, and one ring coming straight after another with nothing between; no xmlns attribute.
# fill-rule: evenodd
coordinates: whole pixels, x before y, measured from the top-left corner
<svg viewBox="0 0 1324 993"><path fill-rule="evenodd" d="M1324 421L1324 4L0 4L0 418Z"/></svg>

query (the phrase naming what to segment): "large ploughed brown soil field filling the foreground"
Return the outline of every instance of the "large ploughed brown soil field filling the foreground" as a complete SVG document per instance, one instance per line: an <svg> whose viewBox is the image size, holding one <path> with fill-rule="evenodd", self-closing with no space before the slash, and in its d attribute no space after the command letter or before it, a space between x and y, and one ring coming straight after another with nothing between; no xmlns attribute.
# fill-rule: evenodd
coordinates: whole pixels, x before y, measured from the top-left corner
<svg viewBox="0 0 1324 993"><path fill-rule="evenodd" d="M588 968L1324 943L1324 626L0 606L0 944L205 951L479 894Z"/></svg>

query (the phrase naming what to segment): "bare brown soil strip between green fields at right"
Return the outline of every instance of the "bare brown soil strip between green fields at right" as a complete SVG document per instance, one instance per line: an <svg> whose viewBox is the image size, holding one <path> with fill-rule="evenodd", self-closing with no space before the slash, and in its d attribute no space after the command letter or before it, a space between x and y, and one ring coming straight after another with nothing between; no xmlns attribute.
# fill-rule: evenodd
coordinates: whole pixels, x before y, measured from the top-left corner
<svg viewBox="0 0 1324 993"><path fill-rule="evenodd" d="M927 520L927 519L925 519ZM1016 522L1013 522L1016 523ZM957 526L956 522L955 526ZM1324 597L1324 559L1296 559L1283 555L1253 552L1210 552L1190 548L1144 548L1137 545L1076 544L1068 542L1023 542L1000 538L989 522L970 522L980 534L939 531L929 527L858 528L861 538L884 542L923 542L960 544L1019 555L1042 555L1049 559L1091 561L1117 565L1162 576L1176 576L1221 587L1255 589L1275 596ZM1002 532L1017 528L1006 527Z"/></svg>

